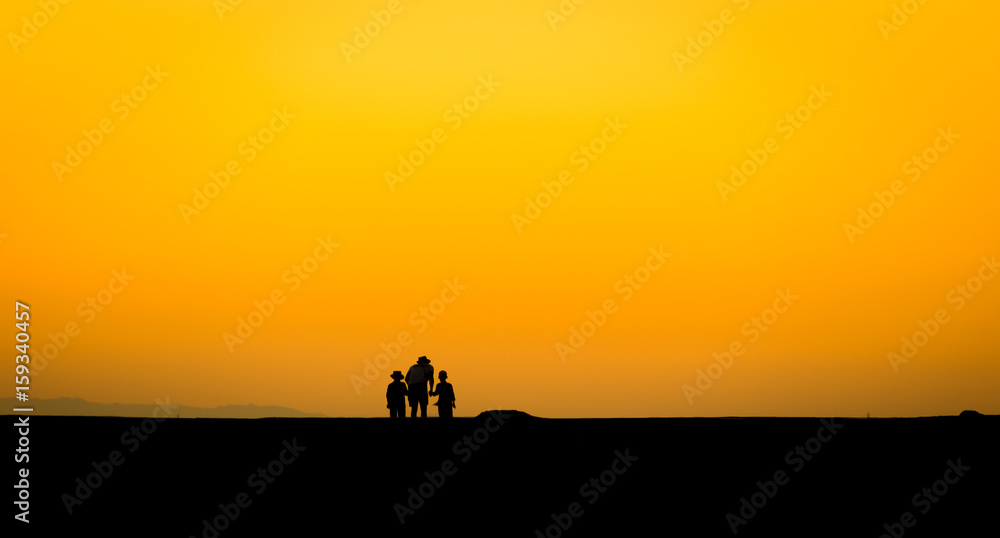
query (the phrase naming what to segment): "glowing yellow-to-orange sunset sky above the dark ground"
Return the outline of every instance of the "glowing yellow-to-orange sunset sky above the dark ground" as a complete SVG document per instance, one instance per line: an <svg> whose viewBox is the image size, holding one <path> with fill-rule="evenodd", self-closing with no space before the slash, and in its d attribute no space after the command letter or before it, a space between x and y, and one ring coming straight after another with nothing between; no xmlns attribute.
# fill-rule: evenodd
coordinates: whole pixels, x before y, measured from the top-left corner
<svg viewBox="0 0 1000 538"><path fill-rule="evenodd" d="M427 355L458 415L1000 413L997 3L223 2L0 7L33 397L384 416Z"/></svg>

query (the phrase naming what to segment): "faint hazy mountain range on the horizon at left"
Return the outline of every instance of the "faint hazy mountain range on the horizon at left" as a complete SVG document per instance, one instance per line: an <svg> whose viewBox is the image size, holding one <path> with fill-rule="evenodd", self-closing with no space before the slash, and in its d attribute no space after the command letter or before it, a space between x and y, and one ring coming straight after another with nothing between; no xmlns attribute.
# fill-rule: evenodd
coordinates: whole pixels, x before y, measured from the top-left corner
<svg viewBox="0 0 1000 538"><path fill-rule="evenodd" d="M177 402L164 400L163 403L169 405L172 416L180 418L270 418L270 417L325 417L320 413L303 413L297 409L280 407L277 405L222 405L213 408L191 407L188 405L177 405ZM53 416L89 416L89 417L151 417L153 411L157 409L158 403L147 404L104 404L88 402L83 398L54 398L42 399L32 398L27 403L34 408L34 415ZM19 402L15 398L0 398L0 414L16 414L12 410L24 407L25 402ZM176 407L175 407L176 406ZM167 410L157 412L157 416L164 416Z"/></svg>

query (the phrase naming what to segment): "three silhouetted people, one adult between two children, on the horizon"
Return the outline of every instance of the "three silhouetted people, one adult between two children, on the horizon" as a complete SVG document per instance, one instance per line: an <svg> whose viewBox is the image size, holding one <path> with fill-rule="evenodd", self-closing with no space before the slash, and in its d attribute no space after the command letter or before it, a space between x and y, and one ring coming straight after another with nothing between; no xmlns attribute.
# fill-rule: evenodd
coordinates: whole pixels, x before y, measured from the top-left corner
<svg viewBox="0 0 1000 538"><path fill-rule="evenodd" d="M434 405L438 408L438 416L441 418L451 418L452 409L455 408L455 389L448 379L448 372L441 370L438 374L438 388L434 390L434 367L427 357L420 357L417 363L410 366L406 375L396 370L390 376L394 380L389 383L389 388L385 391L385 399L388 402L390 418L406 417L406 402L410 402L410 416L417 416L417 407L420 408L420 416L427 417L427 395L437 396L438 401ZM403 380L406 383L403 383Z"/></svg>

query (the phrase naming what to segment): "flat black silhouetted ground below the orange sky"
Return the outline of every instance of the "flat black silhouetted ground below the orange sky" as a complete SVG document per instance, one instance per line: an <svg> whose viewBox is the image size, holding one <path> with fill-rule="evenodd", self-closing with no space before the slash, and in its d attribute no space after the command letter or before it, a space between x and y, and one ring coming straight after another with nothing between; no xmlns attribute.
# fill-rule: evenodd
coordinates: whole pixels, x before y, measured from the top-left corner
<svg viewBox="0 0 1000 538"><path fill-rule="evenodd" d="M735 527L737 536L898 538L997 529L996 416L143 422L31 417L30 524L15 521L15 535L572 538L733 536Z"/></svg>

